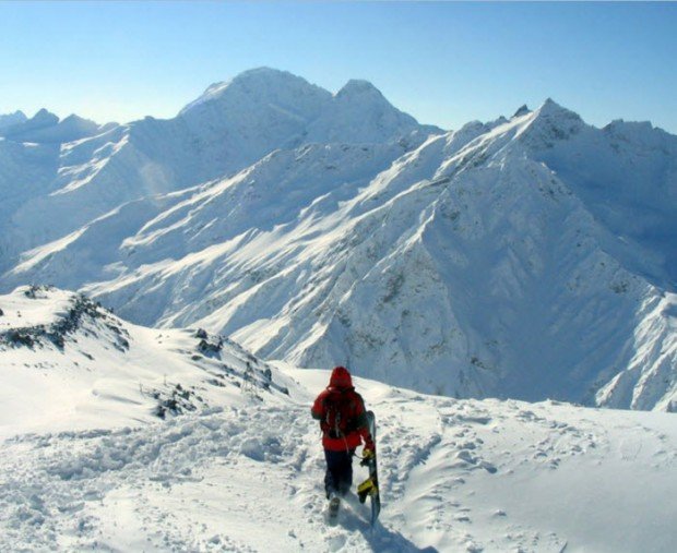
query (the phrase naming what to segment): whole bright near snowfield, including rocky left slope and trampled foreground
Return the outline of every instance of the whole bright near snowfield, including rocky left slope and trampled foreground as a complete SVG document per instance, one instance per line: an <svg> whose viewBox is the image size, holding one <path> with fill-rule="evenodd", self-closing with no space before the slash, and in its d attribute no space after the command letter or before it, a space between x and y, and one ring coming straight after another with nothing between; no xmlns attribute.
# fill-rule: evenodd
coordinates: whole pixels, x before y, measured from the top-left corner
<svg viewBox="0 0 677 553"><path fill-rule="evenodd" d="M352 495L330 527L309 416L329 371L54 288L0 304L0 551L673 551L673 414L356 377L381 526Z"/></svg>

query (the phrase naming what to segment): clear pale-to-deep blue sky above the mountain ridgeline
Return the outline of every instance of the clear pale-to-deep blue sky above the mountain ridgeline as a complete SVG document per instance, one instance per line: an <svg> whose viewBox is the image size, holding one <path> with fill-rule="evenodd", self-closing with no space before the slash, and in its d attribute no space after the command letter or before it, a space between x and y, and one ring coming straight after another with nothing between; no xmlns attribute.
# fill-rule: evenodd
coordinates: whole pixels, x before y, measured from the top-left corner
<svg viewBox="0 0 677 553"><path fill-rule="evenodd" d="M447 129L553 97L677 134L677 3L0 2L0 113L167 118L261 65Z"/></svg>

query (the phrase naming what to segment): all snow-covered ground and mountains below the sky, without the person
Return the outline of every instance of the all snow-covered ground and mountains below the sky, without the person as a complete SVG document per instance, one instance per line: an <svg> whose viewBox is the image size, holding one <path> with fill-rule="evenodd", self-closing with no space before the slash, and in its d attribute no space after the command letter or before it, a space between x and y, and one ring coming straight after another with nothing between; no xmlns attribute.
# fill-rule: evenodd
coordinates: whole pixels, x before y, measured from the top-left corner
<svg viewBox="0 0 677 553"><path fill-rule="evenodd" d="M674 551L676 159L269 68L169 120L0 116L0 550ZM324 517L340 363L375 529Z"/></svg>

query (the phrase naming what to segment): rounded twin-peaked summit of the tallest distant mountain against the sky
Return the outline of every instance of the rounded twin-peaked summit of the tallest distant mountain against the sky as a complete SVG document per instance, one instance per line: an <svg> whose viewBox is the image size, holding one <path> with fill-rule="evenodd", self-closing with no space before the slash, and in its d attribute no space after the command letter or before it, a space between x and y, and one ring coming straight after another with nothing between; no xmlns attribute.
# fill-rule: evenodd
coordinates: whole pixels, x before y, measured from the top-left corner
<svg viewBox="0 0 677 553"><path fill-rule="evenodd" d="M224 140L237 135L248 142L252 136L269 136L277 145L380 143L423 129L368 81L351 80L331 94L300 76L271 68L252 69L210 85L179 117L191 128L209 123L215 133L223 133ZM439 129L426 128L426 132L436 131Z"/></svg>

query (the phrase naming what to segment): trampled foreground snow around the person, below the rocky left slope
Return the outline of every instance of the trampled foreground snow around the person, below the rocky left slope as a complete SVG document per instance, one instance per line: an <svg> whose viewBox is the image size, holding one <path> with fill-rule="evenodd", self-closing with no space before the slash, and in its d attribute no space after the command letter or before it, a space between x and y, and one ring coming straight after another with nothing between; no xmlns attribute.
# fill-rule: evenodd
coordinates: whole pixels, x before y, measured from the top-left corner
<svg viewBox="0 0 677 553"><path fill-rule="evenodd" d="M308 412L326 373L289 372L308 389L289 406L8 438L0 550L670 551L672 416L435 398L361 380L379 426L381 521L371 531L353 495L328 526ZM364 470L355 464L355 484Z"/></svg>

